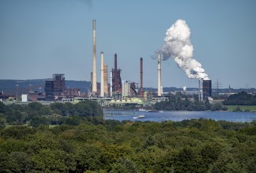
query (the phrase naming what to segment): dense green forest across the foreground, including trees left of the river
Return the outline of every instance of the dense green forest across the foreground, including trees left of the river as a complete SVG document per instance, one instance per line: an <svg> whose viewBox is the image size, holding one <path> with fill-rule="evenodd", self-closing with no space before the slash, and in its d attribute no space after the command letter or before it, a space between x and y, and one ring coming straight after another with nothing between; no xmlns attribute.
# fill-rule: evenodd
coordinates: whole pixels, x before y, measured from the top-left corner
<svg viewBox="0 0 256 173"><path fill-rule="evenodd" d="M104 120L92 101L0 103L0 112L0 172L256 170L256 121L119 122ZM47 123L35 125L33 117Z"/></svg>

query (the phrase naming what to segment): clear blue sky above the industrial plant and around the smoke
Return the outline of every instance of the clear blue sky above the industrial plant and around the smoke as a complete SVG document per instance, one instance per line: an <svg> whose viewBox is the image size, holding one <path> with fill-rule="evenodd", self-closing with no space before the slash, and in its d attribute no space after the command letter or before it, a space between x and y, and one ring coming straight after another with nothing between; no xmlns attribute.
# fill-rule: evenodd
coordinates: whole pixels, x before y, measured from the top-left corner
<svg viewBox="0 0 256 173"><path fill-rule="evenodd" d="M0 0L0 79L90 80L92 19L96 19L97 81L100 52L110 70L114 53L122 79L157 86L151 56L176 20L186 20L194 58L222 87L256 87L254 0ZM162 84L198 86L173 59L162 62Z"/></svg>

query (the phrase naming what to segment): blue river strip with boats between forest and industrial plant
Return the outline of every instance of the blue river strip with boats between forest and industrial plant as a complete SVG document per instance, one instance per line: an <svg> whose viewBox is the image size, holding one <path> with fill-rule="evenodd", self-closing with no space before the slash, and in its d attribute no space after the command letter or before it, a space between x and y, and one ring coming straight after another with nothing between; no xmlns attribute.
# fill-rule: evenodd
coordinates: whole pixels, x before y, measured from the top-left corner
<svg viewBox="0 0 256 173"><path fill-rule="evenodd" d="M144 118L137 118L145 116ZM105 120L130 120L130 121L182 121L190 119L227 120L233 122L250 122L256 120L256 113L252 112L190 112L190 111L164 111L164 112L141 112L137 110L104 110Z"/></svg>

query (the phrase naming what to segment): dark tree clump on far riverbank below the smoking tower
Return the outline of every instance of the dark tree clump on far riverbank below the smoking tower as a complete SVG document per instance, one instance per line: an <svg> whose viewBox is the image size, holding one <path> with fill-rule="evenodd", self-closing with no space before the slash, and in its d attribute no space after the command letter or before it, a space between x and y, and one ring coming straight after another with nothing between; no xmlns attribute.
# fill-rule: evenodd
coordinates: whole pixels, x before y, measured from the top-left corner
<svg viewBox="0 0 256 173"><path fill-rule="evenodd" d="M169 96L168 101L161 101L154 105L156 110L168 110L168 111L218 111L218 110L228 110L220 103L210 104L209 100L206 101L190 101L188 98L182 98L179 95Z"/></svg>

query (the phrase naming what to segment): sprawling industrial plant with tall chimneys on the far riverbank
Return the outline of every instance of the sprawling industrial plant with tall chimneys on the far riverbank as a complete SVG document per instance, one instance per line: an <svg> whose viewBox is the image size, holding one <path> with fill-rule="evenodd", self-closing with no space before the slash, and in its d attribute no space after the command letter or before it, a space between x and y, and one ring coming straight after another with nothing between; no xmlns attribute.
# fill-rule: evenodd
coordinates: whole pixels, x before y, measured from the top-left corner
<svg viewBox="0 0 256 173"><path fill-rule="evenodd" d="M156 102L167 101L167 95L164 93L162 86L162 57L166 53L160 50L157 53L157 90L145 90L143 87L143 57L138 58L139 67L137 69L140 76L140 83L130 80L122 79L122 69L118 65L118 54L114 54L114 67L110 68L104 63L104 52L100 52L100 83L96 79L96 69L99 65L96 64L96 20L92 20L92 72L90 81L90 90L87 93L81 92L79 88L66 87L64 74L53 74L51 79L47 79L44 84L44 93L28 93L22 94L21 99L23 102L27 101L85 101L95 100L100 105L137 105L147 106L154 105ZM164 56L166 56L164 54ZM110 68L110 70L108 69ZM171 94L183 94L191 100L194 96L198 96L199 101L205 101L212 97L212 83L206 76L205 78L198 79L199 86L196 92L190 93L184 87L183 92L175 92Z"/></svg>

